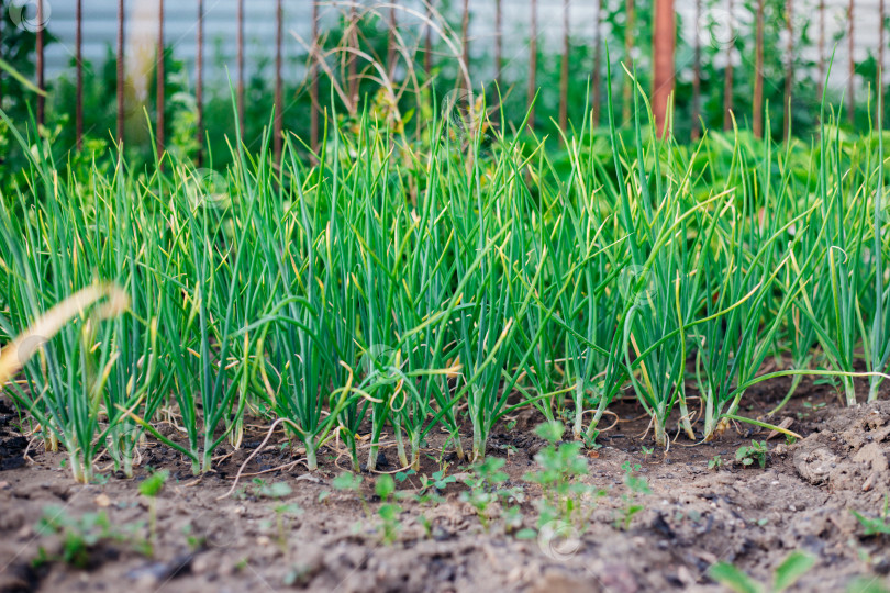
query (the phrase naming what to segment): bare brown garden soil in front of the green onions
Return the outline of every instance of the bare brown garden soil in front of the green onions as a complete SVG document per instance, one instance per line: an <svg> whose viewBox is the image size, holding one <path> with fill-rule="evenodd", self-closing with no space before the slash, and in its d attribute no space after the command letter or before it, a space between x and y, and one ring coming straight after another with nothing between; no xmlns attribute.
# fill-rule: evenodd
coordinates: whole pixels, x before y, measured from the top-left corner
<svg viewBox="0 0 890 593"><path fill-rule="evenodd" d="M787 385L777 381L759 388L752 395L764 403L744 414L761 415ZM332 488L341 471L333 450L322 456L322 469L313 474L301 466L264 474L266 484L290 486L282 500L264 497L249 477L242 479L240 495L218 500L262 440L259 432L201 480L190 475L178 455L149 444L136 479L107 470L104 483L78 485L60 467L59 454L32 447L31 461L15 461L22 440L12 441L20 437L7 422L0 426L5 430L0 435L5 469L0 472L0 591L721 591L707 575L717 560L766 583L792 550L817 558L797 591L885 591L890 586L890 536L865 537L850 510L877 517L890 490L890 402L842 409L833 393L809 381L800 393L810 395L794 400L772 422L793 418L791 429L805 438L793 445L782 437L769 440L766 469L736 463L735 451L753 438L766 439L768 430L738 425L717 443L694 444L680 436L667 452L652 451L652 434L642 437L646 419L638 417L641 411L619 404L622 422L587 457L585 481L607 494L588 502L588 521L553 540L546 529L533 539L508 534L497 507L490 510L486 530L459 500L466 488L450 484L443 503L401 501L401 528L386 545L372 480L366 477L364 486L368 516L356 494ZM493 435L489 454L507 458L510 485L522 492L522 526L535 528L541 490L522 477L536 468L532 457L542 441L532 430L539 417L523 412L514 419L510 430ZM438 438L431 439L436 458ZM387 449L386 456L393 463L394 450ZM714 456L723 466L709 470ZM288 451L268 448L245 471L290 460ZM626 530L615 526L627 504L622 497L628 492L625 461L641 465L652 489ZM153 557L137 549L147 535L149 513L138 481L148 466L167 468L173 475L157 501ZM437 469L437 460L424 459L421 473ZM447 471L466 468L455 463ZM418 485L414 477L401 488ZM302 513L286 516L279 529L276 507L285 503ZM35 529L47 508L66 517L104 512L118 537L91 546L87 568L73 568L59 559L60 536Z"/></svg>

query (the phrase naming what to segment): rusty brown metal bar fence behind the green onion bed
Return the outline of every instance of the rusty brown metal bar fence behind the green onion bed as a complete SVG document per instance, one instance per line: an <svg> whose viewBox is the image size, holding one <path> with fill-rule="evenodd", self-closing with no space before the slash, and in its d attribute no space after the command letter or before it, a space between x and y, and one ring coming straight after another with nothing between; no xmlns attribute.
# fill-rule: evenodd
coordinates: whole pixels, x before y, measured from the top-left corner
<svg viewBox="0 0 890 593"><path fill-rule="evenodd" d="M238 120L238 128L242 134L245 132L245 79L246 79L246 67L245 67L245 19L246 19L246 1L245 0L232 0L236 3L236 60L237 60L237 90L236 90L236 102L237 102L237 120ZM319 7L321 2L314 2L312 0L305 0L311 3L311 45L312 47L316 47L321 40L321 31L320 31L320 14L319 14ZM333 1L333 0L332 0ZM422 23L421 26L423 31L419 33L419 40L422 36L422 49L419 47L419 52L423 54L422 59L422 67L429 74L433 68L433 58L434 58L434 51L433 51L433 32L434 26L432 25L434 14L436 14L436 2L435 0L422 0L423 5L425 8L424 14L426 16L426 22ZM554 0L556 1L556 0ZM592 76L591 76L591 92L592 92L592 118L594 122L600 123L601 121L601 110L602 110L602 86L603 86L603 77L602 77L602 22L603 22L603 2L602 0L583 0L585 2L589 2L591 7L594 7L593 12L593 36L590 40L592 45L594 46L593 51L593 68L592 68ZM669 0L655 0L656 2L666 2ZM800 0L799 0L800 1ZM396 67L397 61L399 60L399 47L398 44L400 43L397 40L397 30L400 26L404 26L402 23L403 21L399 18L399 10L402 8L403 2L405 0L387 0L383 4L389 10L389 19L388 19L388 26L389 26L389 34L387 41L387 57L386 57L386 69L390 77L396 75ZM460 60L460 66L469 71L470 68L470 44L474 42L470 35L470 16L471 16L471 9L474 5L482 4L483 2L489 2L492 4L494 10L494 34L493 34L493 78L497 81L498 86L500 87L503 85L503 71L504 71L504 54L503 54L503 4L502 0L463 0L458 7L460 10L459 13L459 33L456 37L459 36L456 41L459 42L459 55L456 56ZM738 33L738 26L736 24L735 19L735 11L739 9L737 0L725 0L727 10L724 11L727 16L725 16L725 22L723 26L728 30L728 38L730 41L725 43L725 70L724 70L724 81L723 81L723 111L725 113L724 119L724 127L730 128L732 126L732 119L731 112L734 109L733 104L733 92L734 92L734 63L735 56L734 54L737 52L737 45L734 43L735 35ZM292 5L293 0L288 3L288 5ZM330 3L330 2L329 2ZM336 1L333 1L334 4L337 4ZM31 21L25 22L25 19L22 16L22 11L25 10L23 7L34 5L36 10L36 15L31 19ZM570 78L570 59L571 59L571 38L570 38L570 25L571 21L569 18L569 11L579 4L576 0L574 3L569 0L564 0L559 3L560 9L563 11L563 19L561 19L561 26L563 26L563 36L561 36L561 68L559 72L559 112L558 112L558 124L563 128L566 128L569 125L568 122L568 111L569 111L569 78ZM786 0L785 3L785 19L786 19L786 31L787 31L787 44L783 48L783 59L785 64L785 80L783 80L783 136L788 136L790 134L790 122L792 118L792 110L791 104L793 101L793 92L794 92L794 79L796 79L796 52L800 51L800 47L796 43L796 35L801 33L801 26L796 26L796 5L793 0ZM359 0L344 0L340 2L340 4L344 13L346 14L346 43L348 45L347 52L345 53L343 60L345 67L347 69L347 80L346 80L346 97L348 97L348 101L351 102L352 108L354 109L358 102L358 72L357 72L357 61L358 61L358 47L359 47L359 40L358 40L358 32L357 32L357 23L358 20L361 18L358 7L361 5ZM530 111L530 126L535 124L535 108L534 108L534 97L537 93L537 53L538 53L538 36L539 36L539 23L538 23L538 2L537 0L530 0L529 5L531 8L530 15L529 15L529 25L530 25L530 43L529 43L529 51L530 51L530 59L529 59L529 78L527 78L527 108ZM755 43L753 47L753 55L748 56L750 61L755 65L755 77L754 77L754 101L752 104L752 125L755 132L755 135L760 136L764 133L764 107L763 107L763 97L764 97L764 74L763 74L763 63L764 63L764 0L757 0L755 3L755 13L754 13L754 34L755 34ZM348 7L348 8L345 8ZM45 21L47 21L47 14L45 14L46 9L48 8L48 0L10 0L9 10L12 11L13 9L19 10L18 13L18 22L16 24L24 23L24 26L27 29L33 29L33 33L35 34L35 83L40 89L46 88L46 33L45 33ZM196 61L194 61L194 80L196 80L196 102L197 102L197 142L198 142L198 153L197 153L197 161L198 166L203 164L204 159L204 145L205 145L205 125L204 125L204 21L205 21L205 10L204 10L204 1L197 0L197 36L196 36ZM156 148L158 154L164 154L165 150L165 143L166 143L166 71L165 71L165 55L166 55L166 38L165 38L165 1L158 0L158 10L159 10L159 18L158 18L158 30L157 30L157 65L156 65L156 86L157 86L157 96L156 96ZM709 8L709 10L712 10ZM848 0L846 3L846 42L847 42L847 54L848 54L848 64L847 68L849 72L855 72L856 69L856 61L855 61L855 52L857 49L856 45L856 34L858 31L855 26L854 16L856 15L857 5L855 0ZM283 122L285 122L285 111L286 105L283 101L283 77L282 77L282 68L283 68L283 35L285 35L285 21L286 21L286 3L283 0L276 0L275 2L275 118L274 118L274 152L276 160L280 159L281 150L282 150L282 138L283 138ZM634 0L624 0L624 24L625 24L625 32L624 32L624 53L625 58L633 54L633 48L637 42L634 37L635 32L635 20L638 18L638 7L636 5ZM801 9L799 12L803 12ZM879 70L882 69L882 64L885 59L885 31L883 31L883 21L885 21L885 2L883 0L879 0L877 7L877 21L878 25L878 43L877 43L877 56L878 56L878 64ZM418 13L420 14L420 13ZM5 15L4 15L5 16ZM702 26L702 0L696 0L694 4L694 19L696 19L696 32L693 35L693 57L691 60L691 65L685 65L686 67L690 67L692 69L692 99L691 99L691 113L693 121L698 121L701 116L701 85L702 85L702 44L701 40L699 38L699 30ZM118 0L116 2L116 47L115 47L115 60L116 60L116 141L119 143L123 143L125 141L125 119L126 119L126 102L127 102L127 87L125 85L126 80L126 56L125 56L125 48L126 48L126 40L125 40L125 21L126 21L126 4L124 0ZM82 149L84 147L84 1L76 0L75 5L75 70L76 70L76 116L75 116L75 126L76 126L76 145L78 149ZM813 21L817 24L817 47L816 47L816 69L817 69L817 88L820 92L822 92L823 81L825 79L826 74L826 3L825 0L819 0L816 5L816 12L812 16ZM15 19L13 19L14 21ZM3 43L3 22L0 22L0 51L2 51ZM419 41L419 44L421 42ZM320 103L319 97L319 81L318 78L322 76L323 69L320 67L318 61L318 56L320 54L313 52L311 54L312 59L309 64L308 69L308 77L309 80L309 92L310 92L310 101L311 108L309 113L310 119L310 146L314 149L318 148L320 143L320 134L321 134L321 126L320 120L322 115L322 109ZM0 57L3 57L0 55ZM0 74L2 77L2 74ZM461 80L461 85L465 82ZM610 83L610 81L605 81L605 83ZM672 80L670 81L672 85ZM622 82L623 85L623 118L628 120L631 118L630 114L630 105L632 101L630 100L631 96L631 83L626 80ZM658 91L658 89L655 89ZM849 76L847 79L846 85L846 101L847 101L847 115L852 119L855 115L855 108L856 108L856 83L854 81L854 77ZM885 96L885 88L881 85L878 90L880 97L879 99L882 104L882 99ZM46 100L43 96L37 97L37 109L36 109L36 120L37 123L44 124L46 119ZM2 87L0 87L0 102L2 102ZM693 138L698 137L698 130L697 125L693 124L692 126L692 134Z"/></svg>

